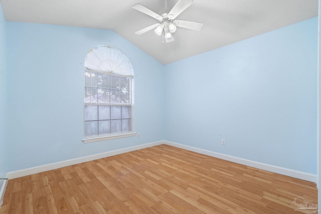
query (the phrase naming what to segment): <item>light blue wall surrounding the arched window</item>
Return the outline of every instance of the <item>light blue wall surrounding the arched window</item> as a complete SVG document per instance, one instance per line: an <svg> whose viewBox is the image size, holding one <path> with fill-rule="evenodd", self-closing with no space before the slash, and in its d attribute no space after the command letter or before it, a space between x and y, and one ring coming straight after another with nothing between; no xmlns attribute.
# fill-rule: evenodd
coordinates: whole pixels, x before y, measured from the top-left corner
<svg viewBox="0 0 321 214"><path fill-rule="evenodd" d="M164 139L164 66L113 31L7 22L10 171ZM131 61L134 128L84 144L83 68L88 51L111 45Z"/></svg>

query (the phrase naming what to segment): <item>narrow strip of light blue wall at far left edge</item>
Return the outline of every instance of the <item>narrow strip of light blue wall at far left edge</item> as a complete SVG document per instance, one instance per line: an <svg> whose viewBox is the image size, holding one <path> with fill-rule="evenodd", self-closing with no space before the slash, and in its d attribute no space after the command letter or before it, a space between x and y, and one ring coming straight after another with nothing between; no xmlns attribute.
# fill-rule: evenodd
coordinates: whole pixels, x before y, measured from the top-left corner
<svg viewBox="0 0 321 214"><path fill-rule="evenodd" d="M7 35L6 20L0 4L0 177L7 176ZM3 180L0 180L0 189ZM1 196L1 195L0 195Z"/></svg>

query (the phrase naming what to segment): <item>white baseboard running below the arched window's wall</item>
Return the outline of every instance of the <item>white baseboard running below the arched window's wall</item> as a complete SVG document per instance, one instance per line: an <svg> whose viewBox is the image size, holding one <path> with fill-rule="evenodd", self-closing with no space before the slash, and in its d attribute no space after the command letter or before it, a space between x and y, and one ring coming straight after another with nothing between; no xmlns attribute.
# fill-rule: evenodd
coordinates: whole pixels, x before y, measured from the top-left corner
<svg viewBox="0 0 321 214"><path fill-rule="evenodd" d="M60 161L60 162L56 162L56 163L50 163L50 164L46 164L46 165L36 166L36 167L32 167L32 168L11 171L8 173L8 179L14 179L17 177L23 177L23 176L27 176L27 175L31 175L31 174L35 174L35 173L39 173L39 172L58 169L58 168L65 167L65 166L70 166L70 165L74 165L74 164L78 164L78 163L84 163L84 162L91 161L91 160L97 160L100 158L109 157L109 156L113 156L113 155L117 155L117 154L122 154L125 152L135 151L138 149L143 149L143 148L156 146L156 145L160 145L160 144L164 144L164 141L146 143L146 144L142 144L142 145L138 145L138 146L117 149L117 150L103 152L103 153L94 154L94 155L89 155L89 156L85 156L85 157L80 157L80 158Z"/></svg>

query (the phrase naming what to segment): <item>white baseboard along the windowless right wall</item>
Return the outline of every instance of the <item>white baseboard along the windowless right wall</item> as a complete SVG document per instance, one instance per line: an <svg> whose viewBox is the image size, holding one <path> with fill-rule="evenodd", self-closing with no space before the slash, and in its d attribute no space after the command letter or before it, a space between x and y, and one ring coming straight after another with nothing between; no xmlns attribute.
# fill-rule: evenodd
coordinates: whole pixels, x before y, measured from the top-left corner
<svg viewBox="0 0 321 214"><path fill-rule="evenodd" d="M234 156L230 156L230 155L226 155L226 154L222 154L222 153L217 153L217 152L213 152L213 151L209 151L209 150L205 150L205 149L200 149L200 148L196 148L196 147L192 147L192 146L187 146L187 145L183 145L183 144L179 144L179 143L174 143L174 142L170 142L170 141L164 141L164 143L167 145L175 146L175 147L186 149L189 151L194 151L194 152L209 155L212 157L217 157L217 158L232 161L235 163L240 163L240 164L255 167L258 169L263 169L266 171L271 171L274 173L283 174L283 175L299 178L302 180L307 180L307 181L314 182L314 183L317 182L317 176L315 174L296 171L296 170L287 169L287 168L274 166L274 165L269 165L269 164L265 164L265 163L260 163L260 162L256 162L256 161L252 161L252 160L234 157Z"/></svg>

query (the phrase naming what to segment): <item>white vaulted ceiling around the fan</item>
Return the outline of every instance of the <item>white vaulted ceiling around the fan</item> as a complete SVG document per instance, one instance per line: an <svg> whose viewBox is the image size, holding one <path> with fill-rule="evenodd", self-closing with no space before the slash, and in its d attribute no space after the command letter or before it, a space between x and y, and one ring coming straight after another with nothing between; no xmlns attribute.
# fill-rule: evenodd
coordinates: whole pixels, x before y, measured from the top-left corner
<svg viewBox="0 0 321 214"><path fill-rule="evenodd" d="M168 44L163 44L162 37L153 30L140 36L134 34L158 21L132 6L141 4L162 14L168 13L177 1L0 0L7 21L113 30L163 64L310 19L318 13L318 0L194 0L177 19L204 23L200 32L178 28L175 41Z"/></svg>

